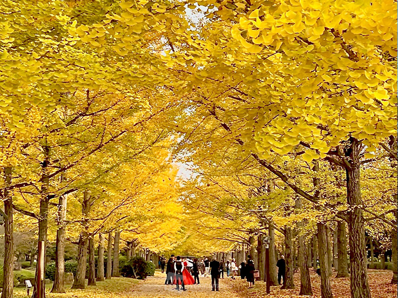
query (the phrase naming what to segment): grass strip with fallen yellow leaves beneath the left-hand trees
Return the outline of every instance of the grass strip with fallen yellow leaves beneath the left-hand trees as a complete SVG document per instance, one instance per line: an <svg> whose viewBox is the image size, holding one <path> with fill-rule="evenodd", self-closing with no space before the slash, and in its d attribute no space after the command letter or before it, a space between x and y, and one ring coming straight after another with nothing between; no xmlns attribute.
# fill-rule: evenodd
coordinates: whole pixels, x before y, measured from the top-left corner
<svg viewBox="0 0 398 298"><path fill-rule="evenodd" d="M97 286L86 286L85 290L71 290L71 285L66 285L65 294L52 294L50 293L52 284L46 285L46 297L59 297L59 298L124 298L127 297L127 293L131 290L134 284L138 284L139 281L131 278L123 277L112 277L111 280L105 280L103 282L97 282ZM32 291L32 290L30 290ZM32 292L31 292L32 293ZM30 294L31 294L30 293ZM27 298L25 288L14 288L14 298Z"/></svg>

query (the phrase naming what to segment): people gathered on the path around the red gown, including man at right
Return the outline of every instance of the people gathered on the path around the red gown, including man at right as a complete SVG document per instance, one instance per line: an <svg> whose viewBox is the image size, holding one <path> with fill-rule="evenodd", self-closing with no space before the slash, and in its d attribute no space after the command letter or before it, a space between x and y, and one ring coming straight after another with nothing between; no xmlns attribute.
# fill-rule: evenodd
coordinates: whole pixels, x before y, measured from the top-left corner
<svg viewBox="0 0 398 298"><path fill-rule="evenodd" d="M166 265L165 260L161 259L159 265L163 273ZM284 256L278 260L277 267L278 282L281 284L281 279L285 282L286 263ZM236 266L234 258L231 262L227 260L225 262L225 270L227 277L232 273L232 279L235 279L235 276L238 276L238 272L240 272L240 278L247 280L249 288L254 286L255 277L257 277L256 274L258 273L250 255L247 257L247 261L242 261L239 266ZM207 257L199 261L197 258L182 258L171 255L167 261L166 275L165 285L176 285L175 290L177 291L180 291L180 285L183 291L186 291L186 285L199 285L199 275L201 277L210 275L212 291L218 291L219 279L224 278L224 263L222 261L218 262L216 259L212 259L210 262Z"/></svg>

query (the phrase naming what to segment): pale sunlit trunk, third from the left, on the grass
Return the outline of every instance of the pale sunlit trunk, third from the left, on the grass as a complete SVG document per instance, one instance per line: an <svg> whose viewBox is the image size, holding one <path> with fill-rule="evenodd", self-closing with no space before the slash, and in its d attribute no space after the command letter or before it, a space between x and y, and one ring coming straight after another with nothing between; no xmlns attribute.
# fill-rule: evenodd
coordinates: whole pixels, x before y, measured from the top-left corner
<svg viewBox="0 0 398 298"><path fill-rule="evenodd" d="M62 179L62 178L61 178ZM66 196L58 199L57 238L55 242L55 276L51 293L65 293L65 221L66 221Z"/></svg>

